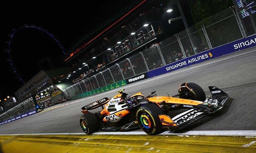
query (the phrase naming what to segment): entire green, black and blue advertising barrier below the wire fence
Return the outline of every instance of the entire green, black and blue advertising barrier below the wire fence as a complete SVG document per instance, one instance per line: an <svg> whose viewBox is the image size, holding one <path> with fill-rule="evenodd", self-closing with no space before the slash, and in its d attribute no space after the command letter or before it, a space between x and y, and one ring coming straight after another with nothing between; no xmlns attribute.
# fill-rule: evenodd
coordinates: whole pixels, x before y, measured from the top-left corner
<svg viewBox="0 0 256 153"><path fill-rule="evenodd" d="M256 35L252 35L250 37L247 38L242 38L233 42L230 42L228 44L219 46L219 47L215 47L213 49L209 49L207 51L201 52L199 54L193 55L193 56L189 56L187 58L183 58L177 62L173 62L171 64L168 64L166 66L162 66L160 68L157 69L153 69L151 71L148 71L146 73L142 73L140 75L137 76L133 76L133 77L129 77L125 80L121 80L118 81L116 83L113 84L109 84L107 86L103 86L101 88L97 88L91 91L87 91L84 93L80 93L77 95L73 95L71 96L71 100L77 99L77 98L83 98L83 97L87 97L87 96L91 96L94 94L98 94L104 91L109 91L127 84L131 84L140 80L144 80L150 77L155 77L164 73L168 73L189 65L193 65L199 62L203 62L206 60L210 60L216 57L220 57L222 55L227 55L230 53L234 53L236 51L239 50L243 50L249 47L254 47L256 46ZM76 89L76 88L75 88ZM74 88L73 88L74 90ZM72 90L71 90L72 91ZM75 91L74 91L75 93Z"/></svg>

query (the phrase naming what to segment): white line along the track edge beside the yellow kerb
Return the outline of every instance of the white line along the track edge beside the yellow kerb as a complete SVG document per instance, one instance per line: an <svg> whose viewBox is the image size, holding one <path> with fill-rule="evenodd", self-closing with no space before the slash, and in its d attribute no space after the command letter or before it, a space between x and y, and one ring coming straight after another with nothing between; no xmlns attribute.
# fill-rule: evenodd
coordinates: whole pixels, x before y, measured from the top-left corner
<svg viewBox="0 0 256 153"><path fill-rule="evenodd" d="M185 133L169 133L159 135L225 135L225 136L256 136L256 130L223 130L223 131L188 131ZM85 133L34 133L34 134L5 134L5 135L85 135ZM147 135L143 131L133 132L95 132L92 135Z"/></svg>

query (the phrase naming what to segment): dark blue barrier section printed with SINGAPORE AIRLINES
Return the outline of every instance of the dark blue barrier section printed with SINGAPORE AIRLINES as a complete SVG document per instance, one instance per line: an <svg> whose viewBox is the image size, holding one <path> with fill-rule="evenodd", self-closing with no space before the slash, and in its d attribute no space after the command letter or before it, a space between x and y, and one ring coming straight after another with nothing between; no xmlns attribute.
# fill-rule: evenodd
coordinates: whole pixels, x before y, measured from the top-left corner
<svg viewBox="0 0 256 153"><path fill-rule="evenodd" d="M230 53L234 53L238 50L243 50L246 48L254 47L256 46L256 35L253 35L251 37L239 39L233 42L230 42L226 45L222 45L220 47L216 47L207 51L204 51L202 53L189 56L188 58L184 58L180 61L171 63L169 65L160 67L158 69L154 69L151 71L148 71L148 77L155 77L164 73L168 73L189 65L193 65L195 63L203 62L206 60L210 60L216 57L220 57L222 55L227 55Z"/></svg>

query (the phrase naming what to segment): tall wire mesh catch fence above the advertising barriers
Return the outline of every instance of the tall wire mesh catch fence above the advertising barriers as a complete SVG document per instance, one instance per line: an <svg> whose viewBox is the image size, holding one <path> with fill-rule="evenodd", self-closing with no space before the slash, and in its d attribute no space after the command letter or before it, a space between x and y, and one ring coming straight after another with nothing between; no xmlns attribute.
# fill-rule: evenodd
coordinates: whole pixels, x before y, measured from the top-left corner
<svg viewBox="0 0 256 153"><path fill-rule="evenodd" d="M64 92L69 97L76 96L81 91L101 88L255 34L256 12L249 15L250 18L244 19L241 9L237 11L231 7L66 88ZM136 41L140 39L138 37Z"/></svg>

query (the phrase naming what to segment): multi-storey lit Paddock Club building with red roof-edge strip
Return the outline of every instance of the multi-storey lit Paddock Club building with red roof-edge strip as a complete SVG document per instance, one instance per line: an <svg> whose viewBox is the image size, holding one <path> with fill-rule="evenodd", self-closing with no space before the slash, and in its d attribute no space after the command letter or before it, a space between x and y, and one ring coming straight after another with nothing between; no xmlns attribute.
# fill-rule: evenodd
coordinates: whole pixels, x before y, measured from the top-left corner
<svg viewBox="0 0 256 153"><path fill-rule="evenodd" d="M98 33L82 38L72 47L63 58L70 67L70 75L57 76L60 79L54 81L66 78L73 83L81 81L155 44L157 37L164 33L160 19L167 4L164 0L140 0L117 13L119 19L111 18L112 22L107 21Z"/></svg>

